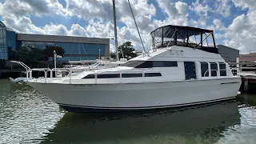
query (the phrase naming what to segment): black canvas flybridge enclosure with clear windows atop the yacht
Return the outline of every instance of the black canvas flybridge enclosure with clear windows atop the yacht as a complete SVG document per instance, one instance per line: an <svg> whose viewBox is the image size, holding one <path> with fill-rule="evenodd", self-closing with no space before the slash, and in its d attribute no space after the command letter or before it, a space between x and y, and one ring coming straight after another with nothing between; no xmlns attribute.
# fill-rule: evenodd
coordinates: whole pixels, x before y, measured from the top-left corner
<svg viewBox="0 0 256 144"><path fill-rule="evenodd" d="M190 26L162 26L152 31L153 49L166 46L186 46L218 54L214 31Z"/></svg>

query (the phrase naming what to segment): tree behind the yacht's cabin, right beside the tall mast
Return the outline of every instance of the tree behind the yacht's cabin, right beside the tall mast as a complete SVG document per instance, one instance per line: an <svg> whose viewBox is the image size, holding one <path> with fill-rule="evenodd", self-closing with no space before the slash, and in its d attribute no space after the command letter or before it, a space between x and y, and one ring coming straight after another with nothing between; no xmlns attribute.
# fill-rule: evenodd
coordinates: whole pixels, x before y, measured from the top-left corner
<svg viewBox="0 0 256 144"><path fill-rule="evenodd" d="M122 54L127 59L137 57L138 54L134 53L134 51L135 49L131 42L124 42L121 46L118 46L118 58L122 58ZM115 53L110 53L110 57L115 58Z"/></svg>

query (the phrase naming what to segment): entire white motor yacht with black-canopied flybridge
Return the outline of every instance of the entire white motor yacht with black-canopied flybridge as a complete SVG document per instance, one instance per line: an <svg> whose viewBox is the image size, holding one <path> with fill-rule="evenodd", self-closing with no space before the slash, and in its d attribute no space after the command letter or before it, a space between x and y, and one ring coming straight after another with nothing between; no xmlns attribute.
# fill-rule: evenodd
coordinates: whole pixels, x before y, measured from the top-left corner
<svg viewBox="0 0 256 144"><path fill-rule="evenodd" d="M234 76L214 42L214 31L162 26L151 32L153 49L122 66L27 84L70 112L146 110L235 98Z"/></svg>

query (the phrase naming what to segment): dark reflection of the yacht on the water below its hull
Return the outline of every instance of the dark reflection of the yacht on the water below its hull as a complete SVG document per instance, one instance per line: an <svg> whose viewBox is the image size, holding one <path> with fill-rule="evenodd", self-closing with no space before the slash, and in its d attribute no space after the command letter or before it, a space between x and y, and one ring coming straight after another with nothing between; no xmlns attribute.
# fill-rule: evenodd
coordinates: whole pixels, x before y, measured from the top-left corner
<svg viewBox="0 0 256 144"><path fill-rule="evenodd" d="M214 143L240 124L235 101L115 114L66 113L42 143Z"/></svg>

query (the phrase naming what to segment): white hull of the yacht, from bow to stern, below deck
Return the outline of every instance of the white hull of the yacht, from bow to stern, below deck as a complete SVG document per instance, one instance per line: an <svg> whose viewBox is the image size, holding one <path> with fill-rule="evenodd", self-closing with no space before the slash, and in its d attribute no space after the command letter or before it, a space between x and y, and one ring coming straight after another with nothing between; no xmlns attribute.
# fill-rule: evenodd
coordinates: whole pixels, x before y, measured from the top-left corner
<svg viewBox="0 0 256 144"><path fill-rule="evenodd" d="M70 112L146 110L235 98L241 78L120 84L27 82Z"/></svg>

